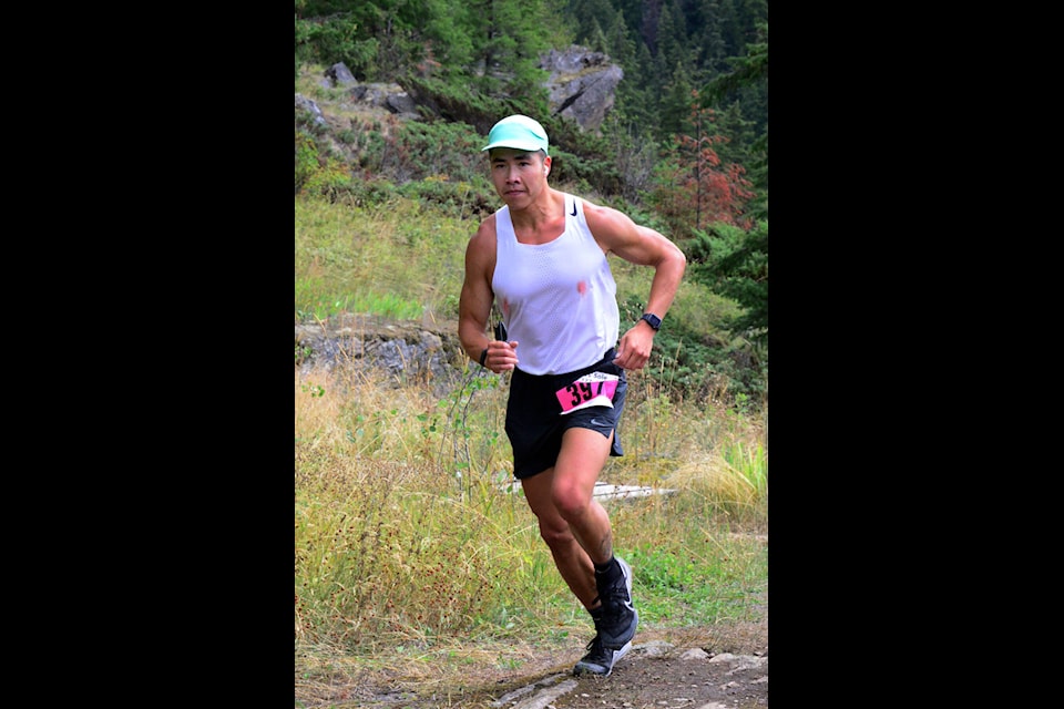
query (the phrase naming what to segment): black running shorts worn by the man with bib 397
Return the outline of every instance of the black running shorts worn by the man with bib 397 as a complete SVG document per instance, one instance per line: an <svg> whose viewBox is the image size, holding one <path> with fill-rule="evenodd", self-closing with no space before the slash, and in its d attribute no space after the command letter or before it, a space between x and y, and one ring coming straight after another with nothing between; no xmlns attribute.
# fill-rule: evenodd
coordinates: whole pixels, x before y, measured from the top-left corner
<svg viewBox="0 0 1064 709"><path fill-rule="evenodd" d="M535 376L513 370L507 401L507 436L513 448L515 479L531 477L553 467L562 450L562 434L572 428L592 429L606 438L613 432L610 455L624 455L616 430L628 381L624 370L613 363L614 357L616 352L611 349L598 362L566 374ZM579 382L580 379L591 381ZM615 390L611 391L613 387ZM606 394L612 394L613 407L593 403L595 397ZM591 405L562 412L563 407L582 400Z"/></svg>

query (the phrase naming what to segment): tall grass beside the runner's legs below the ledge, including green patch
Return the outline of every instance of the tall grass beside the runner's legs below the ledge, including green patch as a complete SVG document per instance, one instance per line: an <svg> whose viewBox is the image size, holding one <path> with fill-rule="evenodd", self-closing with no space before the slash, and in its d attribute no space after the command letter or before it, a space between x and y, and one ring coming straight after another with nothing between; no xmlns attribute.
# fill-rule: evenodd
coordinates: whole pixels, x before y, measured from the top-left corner
<svg viewBox="0 0 1064 709"><path fill-rule="evenodd" d="M383 376L296 373L297 644L374 654L440 638L586 635L511 482L505 394L507 378L479 368L443 400ZM644 623L748 613L743 597L765 588L765 547L728 533L766 522L759 427L727 410L666 410L638 391L628 402L628 455L603 480L673 491L606 503Z"/></svg>

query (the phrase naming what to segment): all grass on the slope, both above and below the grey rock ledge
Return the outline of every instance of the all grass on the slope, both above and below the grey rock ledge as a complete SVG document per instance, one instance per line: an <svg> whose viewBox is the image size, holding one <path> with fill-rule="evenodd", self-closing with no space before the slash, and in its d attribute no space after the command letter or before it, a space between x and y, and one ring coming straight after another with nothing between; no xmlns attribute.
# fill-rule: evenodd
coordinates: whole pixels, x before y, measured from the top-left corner
<svg viewBox="0 0 1064 709"><path fill-rule="evenodd" d="M360 310L457 318L475 219L421 209L297 197L297 321ZM620 274L618 288L645 292ZM342 359L295 370L297 678L349 662L470 672L544 647L581 650L590 618L512 481L508 376L473 366L440 395ZM641 631L756 620L767 593L765 414L667 389L630 372L625 455L601 477L669 491L604 503L634 569Z"/></svg>

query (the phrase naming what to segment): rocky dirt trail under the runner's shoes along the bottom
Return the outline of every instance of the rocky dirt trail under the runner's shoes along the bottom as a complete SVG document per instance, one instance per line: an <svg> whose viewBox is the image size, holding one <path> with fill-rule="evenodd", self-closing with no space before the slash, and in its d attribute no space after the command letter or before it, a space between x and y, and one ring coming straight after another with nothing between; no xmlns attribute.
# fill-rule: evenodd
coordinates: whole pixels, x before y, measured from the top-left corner
<svg viewBox="0 0 1064 709"><path fill-rule="evenodd" d="M297 709L754 709L768 706L768 617L640 631L610 677L573 677L582 647L519 672L474 661L457 681L385 674L297 680Z"/></svg>

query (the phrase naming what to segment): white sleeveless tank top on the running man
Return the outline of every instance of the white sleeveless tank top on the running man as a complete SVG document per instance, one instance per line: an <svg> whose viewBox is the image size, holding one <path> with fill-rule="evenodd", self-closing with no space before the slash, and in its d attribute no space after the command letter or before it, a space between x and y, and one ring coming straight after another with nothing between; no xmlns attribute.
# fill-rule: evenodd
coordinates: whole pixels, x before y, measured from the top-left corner
<svg viewBox="0 0 1064 709"><path fill-rule="evenodd" d="M491 287L524 372L582 369L617 343L617 284L573 195L565 195L565 230L549 244L519 243L510 207L495 212Z"/></svg>

